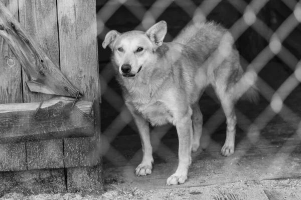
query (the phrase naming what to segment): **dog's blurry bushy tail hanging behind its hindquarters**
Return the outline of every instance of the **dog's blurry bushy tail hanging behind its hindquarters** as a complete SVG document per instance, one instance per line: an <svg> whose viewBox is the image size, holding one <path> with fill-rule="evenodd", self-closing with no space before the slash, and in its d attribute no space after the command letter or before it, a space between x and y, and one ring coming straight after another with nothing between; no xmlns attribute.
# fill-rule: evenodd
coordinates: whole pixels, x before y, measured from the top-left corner
<svg viewBox="0 0 301 200"><path fill-rule="evenodd" d="M241 98L242 100L249 100L257 103L259 101L259 93L258 88L255 85L256 79L256 72L245 72L232 88L235 96L237 96L237 98Z"/></svg>

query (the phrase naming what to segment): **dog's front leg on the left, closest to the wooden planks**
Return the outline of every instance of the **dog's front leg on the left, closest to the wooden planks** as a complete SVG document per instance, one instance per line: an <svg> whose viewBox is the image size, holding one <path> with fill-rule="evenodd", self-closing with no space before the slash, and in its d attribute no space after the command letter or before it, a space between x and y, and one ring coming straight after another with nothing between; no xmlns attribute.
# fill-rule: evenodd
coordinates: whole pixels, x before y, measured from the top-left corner
<svg viewBox="0 0 301 200"><path fill-rule="evenodd" d="M147 175L152 173L152 163L154 163L153 148L149 137L149 124L142 116L135 113L132 114L139 131L143 152L142 162L135 169L135 174L137 176Z"/></svg>

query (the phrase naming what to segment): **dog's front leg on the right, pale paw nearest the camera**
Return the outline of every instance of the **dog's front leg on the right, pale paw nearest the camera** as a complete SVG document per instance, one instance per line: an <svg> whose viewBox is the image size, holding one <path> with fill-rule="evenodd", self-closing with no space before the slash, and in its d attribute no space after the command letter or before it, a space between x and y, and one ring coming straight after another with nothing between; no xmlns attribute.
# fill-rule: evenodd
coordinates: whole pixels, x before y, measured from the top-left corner
<svg viewBox="0 0 301 200"><path fill-rule="evenodd" d="M192 110L189 107L189 111L183 117L175 120L178 137L179 137L179 165L176 172L171 175L166 184L178 184L184 183L187 179L188 167L191 164L191 148L192 148Z"/></svg>

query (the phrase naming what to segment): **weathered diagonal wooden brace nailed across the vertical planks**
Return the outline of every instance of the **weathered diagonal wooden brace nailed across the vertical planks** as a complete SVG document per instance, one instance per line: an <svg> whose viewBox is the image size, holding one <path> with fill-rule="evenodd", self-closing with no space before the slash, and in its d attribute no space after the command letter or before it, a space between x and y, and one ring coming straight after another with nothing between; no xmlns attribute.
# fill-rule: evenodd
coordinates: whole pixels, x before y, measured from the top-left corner
<svg viewBox="0 0 301 200"><path fill-rule="evenodd" d="M20 19L24 16L21 13L24 11L20 10ZM44 20L43 22L46 24ZM74 97L77 95L79 90L64 76L57 64L49 58L2 2L0 2L0 35L10 44L22 67L30 76L31 80L26 83L31 91Z"/></svg>

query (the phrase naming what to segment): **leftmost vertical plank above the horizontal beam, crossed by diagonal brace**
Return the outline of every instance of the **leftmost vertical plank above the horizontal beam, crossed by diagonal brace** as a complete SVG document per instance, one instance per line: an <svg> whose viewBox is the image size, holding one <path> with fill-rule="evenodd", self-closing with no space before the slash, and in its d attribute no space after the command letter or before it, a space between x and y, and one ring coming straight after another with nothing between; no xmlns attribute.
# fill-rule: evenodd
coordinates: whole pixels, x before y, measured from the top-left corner
<svg viewBox="0 0 301 200"><path fill-rule="evenodd" d="M18 18L18 0L0 0ZM0 104L22 102L21 64L9 44L0 37Z"/></svg>

